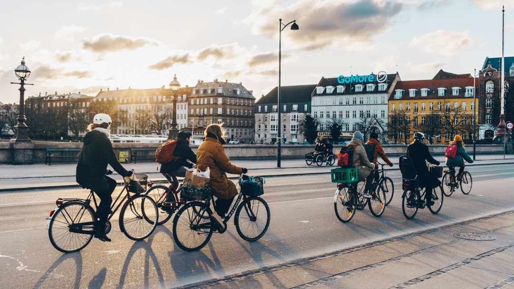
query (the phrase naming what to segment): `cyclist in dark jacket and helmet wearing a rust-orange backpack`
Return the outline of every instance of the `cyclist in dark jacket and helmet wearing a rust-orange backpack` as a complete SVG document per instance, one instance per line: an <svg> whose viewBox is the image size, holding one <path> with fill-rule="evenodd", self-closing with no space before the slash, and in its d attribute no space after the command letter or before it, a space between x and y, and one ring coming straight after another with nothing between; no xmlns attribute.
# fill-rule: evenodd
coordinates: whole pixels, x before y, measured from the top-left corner
<svg viewBox="0 0 514 289"><path fill-rule="evenodd" d="M193 134L189 130L181 130L177 134L177 138L163 143L156 151L156 161L161 164L160 173L173 184L174 188L178 188L177 176L186 176L186 168L194 167L191 162L196 164L196 154L189 147L189 142ZM173 201L173 194L168 194L166 202ZM163 206L162 210L172 210L171 207Z"/></svg>

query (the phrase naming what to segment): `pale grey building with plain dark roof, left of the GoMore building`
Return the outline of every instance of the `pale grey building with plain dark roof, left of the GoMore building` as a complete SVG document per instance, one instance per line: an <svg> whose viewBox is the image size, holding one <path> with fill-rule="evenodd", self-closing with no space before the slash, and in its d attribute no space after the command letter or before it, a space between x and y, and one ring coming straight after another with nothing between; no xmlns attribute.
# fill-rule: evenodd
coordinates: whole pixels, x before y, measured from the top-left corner
<svg viewBox="0 0 514 289"><path fill-rule="evenodd" d="M310 96L316 84L282 86L281 134L283 143L303 143L301 123L310 114ZM255 103L255 142L276 143L278 136L278 87Z"/></svg>

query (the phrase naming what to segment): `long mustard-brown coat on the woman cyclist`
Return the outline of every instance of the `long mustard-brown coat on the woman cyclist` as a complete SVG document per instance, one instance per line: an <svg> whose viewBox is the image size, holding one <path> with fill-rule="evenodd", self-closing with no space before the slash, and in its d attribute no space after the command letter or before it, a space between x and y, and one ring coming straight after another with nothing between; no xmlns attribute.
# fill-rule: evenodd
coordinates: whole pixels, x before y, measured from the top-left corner
<svg viewBox="0 0 514 289"><path fill-rule="evenodd" d="M206 137L196 151L196 168L205 171L207 167L211 171L210 186L216 197L228 200L238 194L226 173L241 174L243 168L231 164L223 145L213 137Z"/></svg>

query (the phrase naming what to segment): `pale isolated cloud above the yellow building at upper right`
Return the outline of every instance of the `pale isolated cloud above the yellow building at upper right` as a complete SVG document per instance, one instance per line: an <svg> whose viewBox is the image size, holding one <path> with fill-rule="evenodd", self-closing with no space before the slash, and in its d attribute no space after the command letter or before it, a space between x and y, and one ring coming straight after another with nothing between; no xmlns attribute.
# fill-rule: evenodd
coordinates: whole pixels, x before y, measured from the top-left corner
<svg viewBox="0 0 514 289"><path fill-rule="evenodd" d="M428 53L452 56L460 53L470 43L468 31L437 30L414 37L411 46L421 47Z"/></svg>

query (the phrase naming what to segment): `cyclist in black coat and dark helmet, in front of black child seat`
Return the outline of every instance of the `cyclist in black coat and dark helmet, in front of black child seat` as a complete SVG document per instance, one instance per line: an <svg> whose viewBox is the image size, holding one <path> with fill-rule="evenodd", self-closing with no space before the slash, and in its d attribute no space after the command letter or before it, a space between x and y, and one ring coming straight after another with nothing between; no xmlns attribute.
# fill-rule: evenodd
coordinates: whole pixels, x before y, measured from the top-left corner
<svg viewBox="0 0 514 289"><path fill-rule="evenodd" d="M427 206L432 206L434 204L434 202L432 201L432 190L440 186L441 182L438 178L436 178L428 172L426 161L437 166L440 165L440 162L432 157L432 155L428 151L428 146L423 143L424 139L424 133L414 133L414 140L409 146L407 146L407 156L411 158L412 164L416 169L419 178L419 186L426 188L426 204ZM418 204L418 207L424 208L424 204Z"/></svg>

